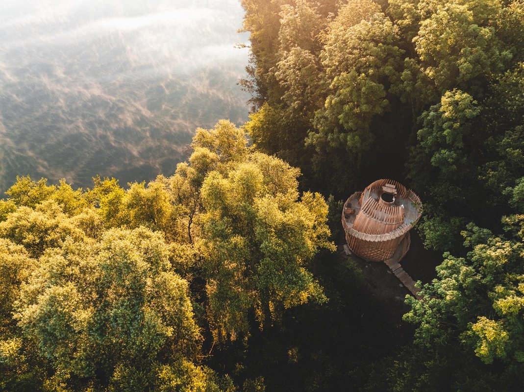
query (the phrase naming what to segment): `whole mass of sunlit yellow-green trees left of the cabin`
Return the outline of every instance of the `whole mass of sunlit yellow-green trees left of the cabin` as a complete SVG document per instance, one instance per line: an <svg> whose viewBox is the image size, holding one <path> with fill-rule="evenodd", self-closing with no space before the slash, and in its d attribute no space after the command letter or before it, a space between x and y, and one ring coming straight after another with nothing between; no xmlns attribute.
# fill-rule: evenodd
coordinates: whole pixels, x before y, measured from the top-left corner
<svg viewBox="0 0 524 392"><path fill-rule="evenodd" d="M206 344L326 300L308 270L333 245L300 170L220 121L170 178L93 189L18 178L0 222L0 378L22 390L223 390ZM178 275L183 274L183 276ZM257 381L258 380L258 381ZM246 388L263 389L259 379Z"/></svg>

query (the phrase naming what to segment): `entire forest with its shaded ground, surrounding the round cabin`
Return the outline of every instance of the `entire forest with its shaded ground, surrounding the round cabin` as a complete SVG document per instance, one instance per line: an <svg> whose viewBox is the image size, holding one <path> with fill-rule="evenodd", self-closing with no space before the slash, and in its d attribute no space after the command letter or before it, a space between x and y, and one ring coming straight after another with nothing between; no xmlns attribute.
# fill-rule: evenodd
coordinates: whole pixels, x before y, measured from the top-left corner
<svg viewBox="0 0 524 392"><path fill-rule="evenodd" d="M522 390L524 2L242 4L244 126L170 177L0 201L0 390ZM336 251L388 177L441 255L405 303Z"/></svg>

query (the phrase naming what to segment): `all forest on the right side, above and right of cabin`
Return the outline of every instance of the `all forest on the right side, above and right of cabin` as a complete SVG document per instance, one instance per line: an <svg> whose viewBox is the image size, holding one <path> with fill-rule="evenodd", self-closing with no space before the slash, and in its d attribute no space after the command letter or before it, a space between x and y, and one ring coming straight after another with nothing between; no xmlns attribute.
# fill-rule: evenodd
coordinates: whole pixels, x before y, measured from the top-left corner
<svg viewBox="0 0 524 392"><path fill-rule="evenodd" d="M242 4L255 147L335 199L401 180L443 254L407 300L413 342L365 388L521 389L524 2Z"/></svg>

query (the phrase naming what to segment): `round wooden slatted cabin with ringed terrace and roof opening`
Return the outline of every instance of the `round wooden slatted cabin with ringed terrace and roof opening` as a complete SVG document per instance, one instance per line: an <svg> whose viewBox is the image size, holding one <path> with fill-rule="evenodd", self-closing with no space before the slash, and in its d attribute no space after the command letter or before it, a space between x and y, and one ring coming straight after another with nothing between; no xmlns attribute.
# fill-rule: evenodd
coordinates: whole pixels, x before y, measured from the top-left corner
<svg viewBox="0 0 524 392"><path fill-rule="evenodd" d="M409 231L422 212L419 197L397 181L382 179L344 204L342 225L347 245L357 256L380 262L408 252Z"/></svg>

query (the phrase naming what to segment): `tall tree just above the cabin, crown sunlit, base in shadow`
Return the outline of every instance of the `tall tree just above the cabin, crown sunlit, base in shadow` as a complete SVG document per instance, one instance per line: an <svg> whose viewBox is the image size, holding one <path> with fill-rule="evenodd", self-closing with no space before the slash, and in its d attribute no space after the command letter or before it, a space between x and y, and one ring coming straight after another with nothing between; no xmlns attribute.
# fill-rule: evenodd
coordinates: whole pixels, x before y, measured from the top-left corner
<svg viewBox="0 0 524 392"><path fill-rule="evenodd" d="M329 25L320 58L330 87L307 138L319 178L354 187L363 157L395 150L402 137L385 132L380 119L397 100L402 57L397 28L372 1L348 3Z"/></svg>

